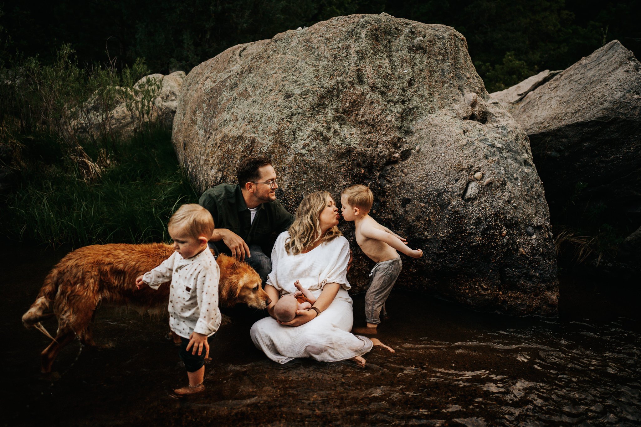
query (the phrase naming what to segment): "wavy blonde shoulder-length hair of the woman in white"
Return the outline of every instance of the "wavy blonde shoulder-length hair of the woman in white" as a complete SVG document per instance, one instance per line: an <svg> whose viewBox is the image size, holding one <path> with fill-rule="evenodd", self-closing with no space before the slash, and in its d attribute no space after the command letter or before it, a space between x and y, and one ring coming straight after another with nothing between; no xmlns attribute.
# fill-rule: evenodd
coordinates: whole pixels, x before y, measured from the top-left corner
<svg viewBox="0 0 641 427"><path fill-rule="evenodd" d="M312 246L316 240L320 243L329 242L342 235L337 226L333 226L326 231L324 236L320 236L320 212L326 208L331 194L327 191L317 191L304 197L301 204L296 209L294 222L289 228L289 239L285 242L285 251L289 255L298 255L307 247Z"/></svg>

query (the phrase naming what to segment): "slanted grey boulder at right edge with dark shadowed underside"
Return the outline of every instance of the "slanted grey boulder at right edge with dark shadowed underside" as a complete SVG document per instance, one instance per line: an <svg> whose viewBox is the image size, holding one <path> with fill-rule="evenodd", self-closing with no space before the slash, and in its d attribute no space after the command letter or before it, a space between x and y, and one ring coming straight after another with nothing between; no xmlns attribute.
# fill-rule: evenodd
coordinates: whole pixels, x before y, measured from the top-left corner
<svg viewBox="0 0 641 427"><path fill-rule="evenodd" d="M603 222L641 225L637 58L613 40L540 85L528 80L491 96L528 133L553 222L572 226L598 212Z"/></svg>

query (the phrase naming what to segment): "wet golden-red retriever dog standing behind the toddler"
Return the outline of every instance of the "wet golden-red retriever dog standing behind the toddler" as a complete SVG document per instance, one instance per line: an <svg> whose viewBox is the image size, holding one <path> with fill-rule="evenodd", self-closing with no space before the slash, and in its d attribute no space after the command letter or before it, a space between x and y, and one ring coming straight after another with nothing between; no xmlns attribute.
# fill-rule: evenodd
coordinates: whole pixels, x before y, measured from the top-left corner
<svg viewBox="0 0 641 427"><path fill-rule="evenodd" d="M169 258L174 248L167 244L107 244L85 246L67 254L47 275L40 294L22 316L26 327L35 326L53 341L42 351L42 372L51 372L62 347L78 336L85 345L95 345L93 319L100 303L129 306L140 312L160 314L167 310L169 285L158 290L136 290L135 280ZM244 303L263 309L271 302L258 273L245 262L219 255L221 269L219 304ZM49 312L53 307L53 312ZM56 316L58 332L53 338L40 321Z"/></svg>

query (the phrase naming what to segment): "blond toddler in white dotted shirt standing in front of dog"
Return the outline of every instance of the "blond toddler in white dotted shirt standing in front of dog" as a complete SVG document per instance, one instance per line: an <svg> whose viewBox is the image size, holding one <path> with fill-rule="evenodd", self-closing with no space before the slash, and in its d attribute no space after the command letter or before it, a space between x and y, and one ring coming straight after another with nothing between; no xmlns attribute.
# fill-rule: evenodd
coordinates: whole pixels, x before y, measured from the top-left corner
<svg viewBox="0 0 641 427"><path fill-rule="evenodd" d="M211 213L191 203L178 208L167 229L174 252L153 270L136 279L137 289L158 289L171 280L169 327L181 338L178 355L187 368L189 385L174 390L178 396L204 390L204 359L209 355L208 337L221 324L218 308L220 269L207 240L213 233Z"/></svg>

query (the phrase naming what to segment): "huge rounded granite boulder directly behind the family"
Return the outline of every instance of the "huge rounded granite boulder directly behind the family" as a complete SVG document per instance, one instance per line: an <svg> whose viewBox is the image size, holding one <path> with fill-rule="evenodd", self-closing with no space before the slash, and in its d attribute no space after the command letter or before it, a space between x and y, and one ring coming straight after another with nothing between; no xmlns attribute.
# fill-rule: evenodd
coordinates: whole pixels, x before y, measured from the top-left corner
<svg viewBox="0 0 641 427"><path fill-rule="evenodd" d="M294 212L369 183L372 216L424 257L397 287L478 310L556 315L549 213L528 137L490 99L453 28L351 15L234 46L185 80L172 140L204 190L269 155ZM354 290L372 263L351 239Z"/></svg>

